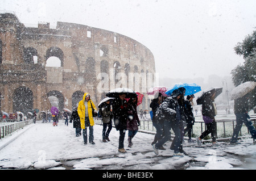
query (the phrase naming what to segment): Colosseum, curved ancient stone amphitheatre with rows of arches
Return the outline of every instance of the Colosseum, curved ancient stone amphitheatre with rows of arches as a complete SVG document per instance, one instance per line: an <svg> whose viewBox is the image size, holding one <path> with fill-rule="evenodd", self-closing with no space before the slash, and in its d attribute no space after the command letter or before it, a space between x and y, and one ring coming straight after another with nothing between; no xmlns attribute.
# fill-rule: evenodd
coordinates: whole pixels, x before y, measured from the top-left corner
<svg viewBox="0 0 256 181"><path fill-rule="evenodd" d="M26 27L14 12L0 14L0 28L0 110L46 111L50 96L72 110L84 92L98 104L116 87L144 94L139 109L148 109L155 61L138 41L74 23Z"/></svg>

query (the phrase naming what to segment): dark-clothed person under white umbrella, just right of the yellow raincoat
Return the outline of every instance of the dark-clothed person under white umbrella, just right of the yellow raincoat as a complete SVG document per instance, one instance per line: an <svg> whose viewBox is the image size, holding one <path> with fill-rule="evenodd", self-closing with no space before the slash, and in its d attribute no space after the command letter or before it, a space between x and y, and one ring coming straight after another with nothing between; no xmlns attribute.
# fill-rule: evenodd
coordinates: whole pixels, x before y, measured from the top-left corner
<svg viewBox="0 0 256 181"><path fill-rule="evenodd" d="M102 142L108 142L109 140L109 133L112 130L112 108L110 107L110 100L107 100L102 106L100 107L102 113ZM108 131L106 130L108 128Z"/></svg>

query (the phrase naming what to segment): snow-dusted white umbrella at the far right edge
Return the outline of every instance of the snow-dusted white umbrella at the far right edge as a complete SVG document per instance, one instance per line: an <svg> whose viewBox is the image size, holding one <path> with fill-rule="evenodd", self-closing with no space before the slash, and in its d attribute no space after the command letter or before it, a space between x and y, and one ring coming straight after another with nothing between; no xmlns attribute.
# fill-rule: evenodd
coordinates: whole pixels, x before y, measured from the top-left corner
<svg viewBox="0 0 256 181"><path fill-rule="evenodd" d="M231 100L242 98L248 92L252 91L255 88L255 86L256 86L256 82L248 81L235 87L231 92Z"/></svg>

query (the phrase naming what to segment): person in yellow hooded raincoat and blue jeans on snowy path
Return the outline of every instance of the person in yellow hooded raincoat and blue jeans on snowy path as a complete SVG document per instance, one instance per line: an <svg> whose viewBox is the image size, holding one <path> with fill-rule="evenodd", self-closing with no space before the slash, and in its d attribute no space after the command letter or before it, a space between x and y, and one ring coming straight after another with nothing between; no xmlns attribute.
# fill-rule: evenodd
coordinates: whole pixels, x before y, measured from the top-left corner
<svg viewBox="0 0 256 181"><path fill-rule="evenodd" d="M84 137L84 144L87 144L87 127L89 127L89 143L95 144L93 142L93 115L92 115L92 108L96 110L96 107L92 100L90 99L90 94L85 92L82 100L79 102L79 106L77 107L77 112L80 117L81 128L82 128L82 135Z"/></svg>

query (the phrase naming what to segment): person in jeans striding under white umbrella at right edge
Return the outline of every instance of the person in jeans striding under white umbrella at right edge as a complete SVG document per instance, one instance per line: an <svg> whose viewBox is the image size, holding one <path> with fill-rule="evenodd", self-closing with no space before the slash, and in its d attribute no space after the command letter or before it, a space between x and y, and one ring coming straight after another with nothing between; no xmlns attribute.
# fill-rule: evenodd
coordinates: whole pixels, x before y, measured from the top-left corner
<svg viewBox="0 0 256 181"><path fill-rule="evenodd" d="M242 98L234 100L234 113L236 115L236 127L234 128L233 136L230 140L230 144L237 144L238 133L240 132L243 123L245 123L248 128L251 137L253 137L253 142L255 143L256 131L253 127L253 123L250 121L250 116L248 114L248 95L244 95Z"/></svg>

